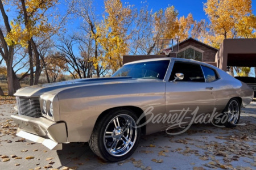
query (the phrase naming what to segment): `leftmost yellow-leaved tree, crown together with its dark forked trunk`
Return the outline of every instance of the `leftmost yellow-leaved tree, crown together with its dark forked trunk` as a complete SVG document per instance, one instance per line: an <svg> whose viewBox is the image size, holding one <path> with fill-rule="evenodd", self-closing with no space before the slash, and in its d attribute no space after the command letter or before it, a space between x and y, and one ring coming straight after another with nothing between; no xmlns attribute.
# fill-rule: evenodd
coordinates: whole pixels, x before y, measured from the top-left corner
<svg viewBox="0 0 256 170"><path fill-rule="evenodd" d="M49 18L53 19L57 17L57 15L53 16L53 13L49 14L49 8L55 6L57 1L58 0L10 1L11 5L15 5L18 16L10 22L11 29L7 33L5 40L9 46L20 44L27 48L30 58L30 85L38 84L39 76L42 71L38 47L34 38L41 37L48 39L50 35L53 35L59 29L48 22ZM35 78L34 63L36 67Z"/></svg>

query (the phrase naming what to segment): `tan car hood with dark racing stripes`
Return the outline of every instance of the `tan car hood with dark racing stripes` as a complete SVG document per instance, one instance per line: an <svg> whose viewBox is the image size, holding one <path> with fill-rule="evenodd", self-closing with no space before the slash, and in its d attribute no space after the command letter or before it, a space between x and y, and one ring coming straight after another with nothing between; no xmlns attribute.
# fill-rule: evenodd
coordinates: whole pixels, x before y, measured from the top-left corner
<svg viewBox="0 0 256 170"><path fill-rule="evenodd" d="M36 86L20 88L18 91L16 91L14 95L38 97L42 94L54 95L68 88L75 88L75 87L81 87L81 86L96 86L100 84L117 84L117 83L125 83L125 82L129 82L129 83L139 82L139 81L144 82L145 80L146 79L133 79L131 77L75 79L75 80L68 80L65 82L47 83L47 84L40 84Z"/></svg>

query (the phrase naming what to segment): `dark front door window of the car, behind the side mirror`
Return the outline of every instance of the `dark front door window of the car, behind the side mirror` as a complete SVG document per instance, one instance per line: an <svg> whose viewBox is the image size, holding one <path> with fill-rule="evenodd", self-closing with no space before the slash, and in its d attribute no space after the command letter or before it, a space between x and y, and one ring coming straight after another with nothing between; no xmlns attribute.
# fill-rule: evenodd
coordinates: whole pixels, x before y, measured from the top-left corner
<svg viewBox="0 0 256 170"><path fill-rule="evenodd" d="M169 80L174 80L176 73L184 74L184 79L180 80L183 82L205 82L204 74L200 65L185 62L175 62Z"/></svg>

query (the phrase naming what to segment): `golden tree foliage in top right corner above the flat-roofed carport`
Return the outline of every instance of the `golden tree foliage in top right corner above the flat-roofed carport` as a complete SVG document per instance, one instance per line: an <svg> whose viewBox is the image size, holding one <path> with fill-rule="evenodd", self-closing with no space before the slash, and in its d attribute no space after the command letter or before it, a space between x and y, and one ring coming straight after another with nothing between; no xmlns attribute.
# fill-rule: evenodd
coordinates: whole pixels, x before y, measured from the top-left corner
<svg viewBox="0 0 256 170"><path fill-rule="evenodd" d="M256 17L251 0L208 0L204 3L210 23L205 42L218 48L223 39L255 37Z"/></svg>

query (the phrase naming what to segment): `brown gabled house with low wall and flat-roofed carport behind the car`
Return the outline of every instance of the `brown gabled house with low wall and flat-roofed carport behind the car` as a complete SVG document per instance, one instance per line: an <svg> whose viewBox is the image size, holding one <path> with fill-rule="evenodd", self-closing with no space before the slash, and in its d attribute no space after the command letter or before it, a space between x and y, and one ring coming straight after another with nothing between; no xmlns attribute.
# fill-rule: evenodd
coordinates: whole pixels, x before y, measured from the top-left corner
<svg viewBox="0 0 256 170"><path fill-rule="evenodd" d="M141 59L167 57L163 55L123 56L123 64ZM220 49L193 38L179 42L176 53L169 57L195 59L227 71L228 66L256 67L256 39L225 39Z"/></svg>

